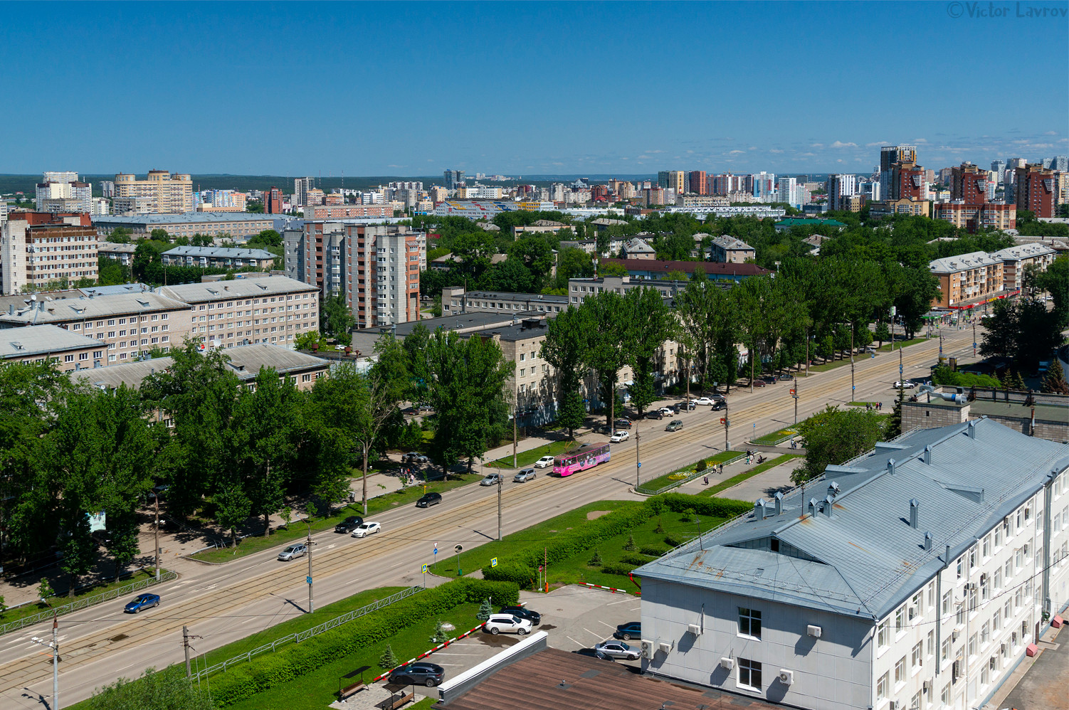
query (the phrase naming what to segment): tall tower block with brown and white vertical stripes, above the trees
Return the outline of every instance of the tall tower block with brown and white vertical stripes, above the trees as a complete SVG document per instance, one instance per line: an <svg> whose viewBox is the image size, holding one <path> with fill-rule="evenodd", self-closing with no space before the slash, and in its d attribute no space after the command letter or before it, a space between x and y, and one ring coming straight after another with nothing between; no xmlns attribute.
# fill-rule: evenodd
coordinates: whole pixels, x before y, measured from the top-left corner
<svg viewBox="0 0 1069 710"><path fill-rule="evenodd" d="M311 221L283 234L285 272L341 293L357 327L419 320L419 275L427 268L427 235L403 225Z"/></svg>

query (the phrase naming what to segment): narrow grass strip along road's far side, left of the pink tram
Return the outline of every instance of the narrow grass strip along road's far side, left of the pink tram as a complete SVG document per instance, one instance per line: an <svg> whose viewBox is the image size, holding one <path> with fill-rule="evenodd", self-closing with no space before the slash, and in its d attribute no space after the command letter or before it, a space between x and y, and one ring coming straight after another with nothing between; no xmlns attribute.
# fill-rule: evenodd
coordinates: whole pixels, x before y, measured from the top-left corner
<svg viewBox="0 0 1069 710"><path fill-rule="evenodd" d="M444 493L454 488L471 483L480 478L482 477L478 474L450 474L449 479L445 481L431 481L425 485L422 483L418 485L410 485L406 489L402 489L401 491L394 491L374 498L369 498L368 516L381 513L384 510L392 510L399 506L414 504L420 498L420 496L423 495L424 489L427 492L436 491L438 493ZM369 490L369 493L371 491ZM363 505L360 503L352 503L337 509L335 514L329 518L312 518L312 531L315 532L319 530L330 529L347 515L363 515ZM217 547L215 550L197 553L193 556L205 562L229 562L269 547L282 546L295 540L303 540L306 537L308 537L308 525L303 522L294 521L290 523L289 528L283 527L273 530L269 537L263 537L262 535L248 537L242 540L236 547Z"/></svg>

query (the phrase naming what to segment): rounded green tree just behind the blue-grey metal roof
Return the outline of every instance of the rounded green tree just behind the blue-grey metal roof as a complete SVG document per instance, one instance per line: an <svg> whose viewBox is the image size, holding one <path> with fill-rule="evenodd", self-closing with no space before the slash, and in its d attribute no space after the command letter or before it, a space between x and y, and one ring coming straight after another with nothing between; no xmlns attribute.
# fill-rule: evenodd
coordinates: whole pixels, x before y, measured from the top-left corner
<svg viewBox="0 0 1069 710"><path fill-rule="evenodd" d="M806 448L805 464L791 474L801 484L868 451L884 436L883 417L866 410L839 410L828 405L799 425L799 438Z"/></svg>

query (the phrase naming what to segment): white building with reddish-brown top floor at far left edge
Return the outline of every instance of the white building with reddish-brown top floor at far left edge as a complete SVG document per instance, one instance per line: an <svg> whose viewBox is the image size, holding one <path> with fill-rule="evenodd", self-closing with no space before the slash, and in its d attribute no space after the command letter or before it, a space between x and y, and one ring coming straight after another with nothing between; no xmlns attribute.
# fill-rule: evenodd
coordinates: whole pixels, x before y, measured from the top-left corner
<svg viewBox="0 0 1069 710"><path fill-rule="evenodd" d="M60 279L95 281L96 257L89 214L12 212L0 227L0 291L35 291Z"/></svg>

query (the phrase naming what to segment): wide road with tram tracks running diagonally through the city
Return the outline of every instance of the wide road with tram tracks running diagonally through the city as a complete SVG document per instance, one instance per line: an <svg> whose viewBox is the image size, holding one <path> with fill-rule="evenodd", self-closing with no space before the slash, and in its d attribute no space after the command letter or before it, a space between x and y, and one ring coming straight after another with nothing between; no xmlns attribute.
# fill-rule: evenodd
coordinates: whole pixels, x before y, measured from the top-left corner
<svg viewBox="0 0 1069 710"><path fill-rule="evenodd" d="M972 359L972 329L945 329L944 336L945 355ZM939 344L939 339L933 339L902 351L904 375L927 375ZM899 353L858 356L854 369L853 391L849 365L801 380L799 417L828 403L851 400L882 398L889 405L895 397L890 385L899 376ZM789 389L789 383L779 382L753 393L732 390L728 411L734 448L744 447L755 432L766 433L794 421ZM681 415L684 428L670 433L663 431L665 421L638 423L642 480L723 450L722 416L723 412L700 407ZM603 437L592 437L599 439ZM566 479L542 472L527 483L512 483L508 478L502 494L503 532L521 530L586 503L635 497L630 491L636 477L635 445L633 431L631 441L614 445L609 463ZM447 493L443 504L434 508L407 507L376 520L383 531L371 538L356 540L332 531L313 536L317 606L362 589L421 584L420 566L433 561L435 542L441 557L448 556L454 544L470 549L495 539L497 489L465 487ZM279 562L277 552L266 551L224 566L204 566L198 573L185 574L158 590L162 597L158 608L137 616L124 615L126 600L117 600L61 617L61 707L89 697L94 688L118 677L137 677L145 667L182 662L183 624L197 636L195 653L202 653L305 613L307 561ZM48 636L50 632L50 624L44 623L0 636L0 707L50 707L50 651L30 642L31 636Z"/></svg>

